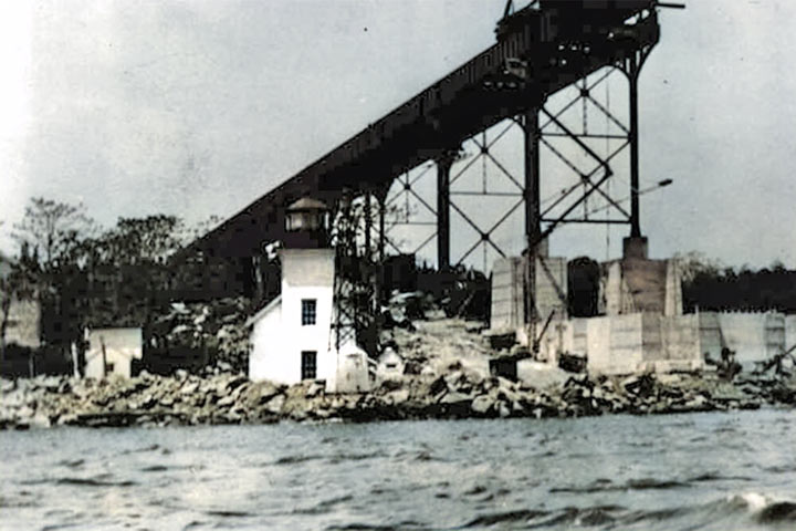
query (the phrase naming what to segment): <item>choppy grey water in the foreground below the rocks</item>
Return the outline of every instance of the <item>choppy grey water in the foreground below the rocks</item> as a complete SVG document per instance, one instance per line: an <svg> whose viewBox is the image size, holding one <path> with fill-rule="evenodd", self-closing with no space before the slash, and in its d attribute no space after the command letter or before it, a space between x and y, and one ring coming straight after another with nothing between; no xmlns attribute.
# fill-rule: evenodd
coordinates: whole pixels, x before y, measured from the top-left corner
<svg viewBox="0 0 796 531"><path fill-rule="evenodd" d="M0 529L796 529L796 410L0 434Z"/></svg>

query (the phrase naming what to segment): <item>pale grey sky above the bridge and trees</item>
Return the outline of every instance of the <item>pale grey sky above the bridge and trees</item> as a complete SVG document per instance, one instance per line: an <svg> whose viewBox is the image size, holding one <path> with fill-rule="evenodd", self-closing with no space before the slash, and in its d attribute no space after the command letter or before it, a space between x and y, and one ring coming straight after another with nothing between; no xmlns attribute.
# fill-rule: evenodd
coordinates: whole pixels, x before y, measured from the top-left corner
<svg viewBox="0 0 796 531"><path fill-rule="evenodd" d="M642 197L650 253L796 268L796 4L685 3L661 12L640 82L641 187L674 181ZM0 249L13 252L10 229L35 196L83 202L105 226L229 217L492 44L503 7L2 2ZM551 249L616 257L626 230L567 228ZM453 231L455 254L467 229L454 219ZM514 252L522 243L519 230L499 238Z"/></svg>

